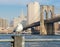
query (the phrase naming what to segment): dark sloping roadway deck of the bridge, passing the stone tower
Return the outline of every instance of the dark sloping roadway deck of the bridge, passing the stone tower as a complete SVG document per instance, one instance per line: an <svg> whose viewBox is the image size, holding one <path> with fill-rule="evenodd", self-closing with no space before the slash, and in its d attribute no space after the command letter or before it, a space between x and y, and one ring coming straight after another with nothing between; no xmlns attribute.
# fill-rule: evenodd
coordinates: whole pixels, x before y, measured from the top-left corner
<svg viewBox="0 0 60 47"><path fill-rule="evenodd" d="M58 22L58 21L60 21L60 17L55 17L55 18L52 18L52 19L44 20L44 23L45 24L50 24L50 23L54 23L54 22ZM27 28L32 28L32 27L39 26L40 24L41 24L40 21L32 23L32 24L27 25L26 27L24 27L24 30L26 30Z"/></svg>

